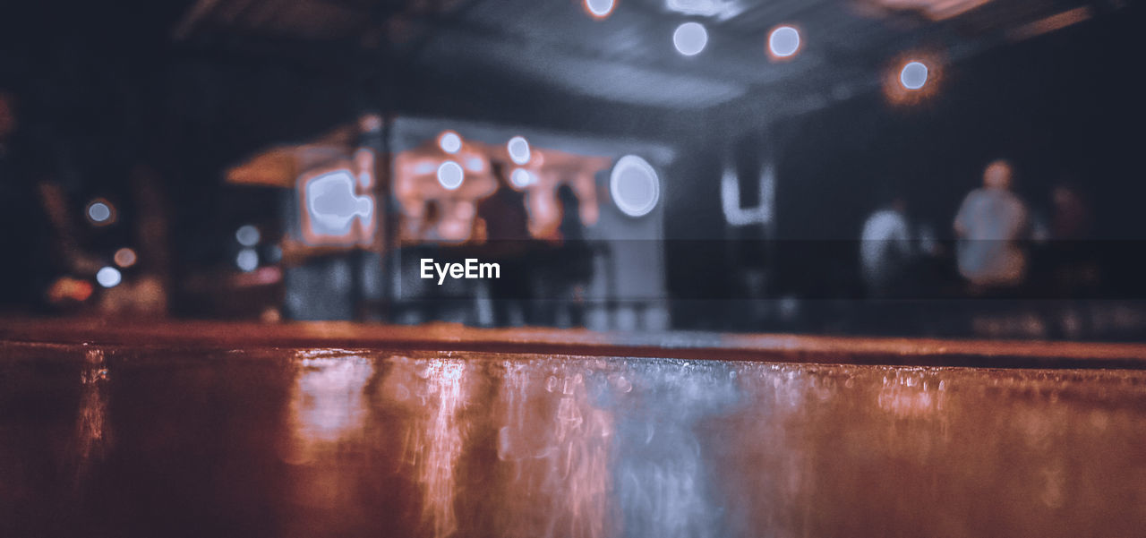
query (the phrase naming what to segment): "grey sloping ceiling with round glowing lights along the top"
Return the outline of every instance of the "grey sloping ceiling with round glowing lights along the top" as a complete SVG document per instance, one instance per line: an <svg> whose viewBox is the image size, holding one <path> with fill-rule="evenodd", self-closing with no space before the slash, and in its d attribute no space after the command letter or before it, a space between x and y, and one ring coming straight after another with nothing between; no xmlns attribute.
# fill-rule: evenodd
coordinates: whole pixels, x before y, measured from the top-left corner
<svg viewBox="0 0 1146 538"><path fill-rule="evenodd" d="M619 0L607 18L595 19L579 0L198 0L173 37L350 43L406 66L405 82L453 85L449 95L460 98L482 80L504 79L518 89L682 112L763 100L785 114L876 87L889 62L912 50L958 62L1080 7L1091 18L1117 5ZM673 47L673 31L685 21L709 32L697 56ZM801 31L801 52L791 61L766 54L768 31L778 24Z"/></svg>

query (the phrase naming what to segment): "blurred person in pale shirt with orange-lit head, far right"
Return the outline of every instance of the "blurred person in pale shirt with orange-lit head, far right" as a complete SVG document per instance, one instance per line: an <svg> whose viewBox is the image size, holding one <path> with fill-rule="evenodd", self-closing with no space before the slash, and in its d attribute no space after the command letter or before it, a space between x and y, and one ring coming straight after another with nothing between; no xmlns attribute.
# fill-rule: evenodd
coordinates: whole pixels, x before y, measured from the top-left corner
<svg viewBox="0 0 1146 538"><path fill-rule="evenodd" d="M983 187L964 198L955 217L959 274L973 291L1022 284L1027 259L1019 240L1029 234L1027 205L1013 192L1013 169L998 159L983 172Z"/></svg>

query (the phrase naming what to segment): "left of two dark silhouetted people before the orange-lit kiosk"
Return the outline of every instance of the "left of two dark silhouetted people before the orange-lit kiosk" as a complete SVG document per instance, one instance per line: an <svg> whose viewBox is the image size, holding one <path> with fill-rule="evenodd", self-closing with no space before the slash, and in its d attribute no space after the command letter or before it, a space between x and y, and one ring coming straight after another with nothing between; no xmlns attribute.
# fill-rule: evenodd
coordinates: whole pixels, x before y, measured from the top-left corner
<svg viewBox="0 0 1146 538"><path fill-rule="evenodd" d="M509 182L501 163L492 166L497 179L497 190L478 204L478 219L484 229L487 246L484 250L489 260L501 264L501 278L489 280L489 296L493 300L494 323L499 326L512 324L513 311L528 323L532 317L529 303L529 228L525 209L525 195Z"/></svg>

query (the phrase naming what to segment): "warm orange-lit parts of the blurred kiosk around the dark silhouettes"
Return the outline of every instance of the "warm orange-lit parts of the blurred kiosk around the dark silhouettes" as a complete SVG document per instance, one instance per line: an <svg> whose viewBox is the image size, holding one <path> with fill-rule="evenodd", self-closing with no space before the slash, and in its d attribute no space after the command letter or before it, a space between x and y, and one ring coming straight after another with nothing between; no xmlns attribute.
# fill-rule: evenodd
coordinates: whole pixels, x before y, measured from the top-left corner
<svg viewBox="0 0 1146 538"><path fill-rule="evenodd" d="M293 255L305 255L312 247L367 246L377 239L377 211L361 212L345 234L315 234L306 199L308 181L330 173L346 172L355 179L354 193L374 201L376 157L369 149L354 148L358 129L347 126L335 129L313 143L272 148L227 171L230 183L274 185L298 190L301 245L288 239L283 247ZM524 137L523 137L524 139ZM493 164L505 166L504 173L523 169L529 174L526 185L512 185L526 193L528 229L534 238L558 240L562 207L557 190L568 184L580 201L581 221L597 222L599 203L595 176L612 165L609 157L567 153L528 145L528 158L518 153L516 165L509 144L484 144L466 140L455 130L444 130L417 148L398 152L393 158L391 189L398 200L398 238L402 244L481 242L477 204L497 188ZM456 151L449 152L447 150ZM438 168L447 160L463 171L460 185L446 188ZM453 176L452 176L453 179Z"/></svg>

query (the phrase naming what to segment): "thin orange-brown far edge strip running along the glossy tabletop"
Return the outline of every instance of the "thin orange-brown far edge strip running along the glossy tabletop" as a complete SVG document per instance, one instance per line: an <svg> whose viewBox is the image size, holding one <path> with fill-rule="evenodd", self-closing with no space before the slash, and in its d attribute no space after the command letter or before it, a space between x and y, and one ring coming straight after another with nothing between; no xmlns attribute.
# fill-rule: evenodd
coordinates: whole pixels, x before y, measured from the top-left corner
<svg viewBox="0 0 1146 538"><path fill-rule="evenodd" d="M0 348L101 346L226 350L244 348L402 349L690 361L903 366L1146 370L1146 343L942 340L701 332L614 333L540 327L351 322L121 322L0 318Z"/></svg>

